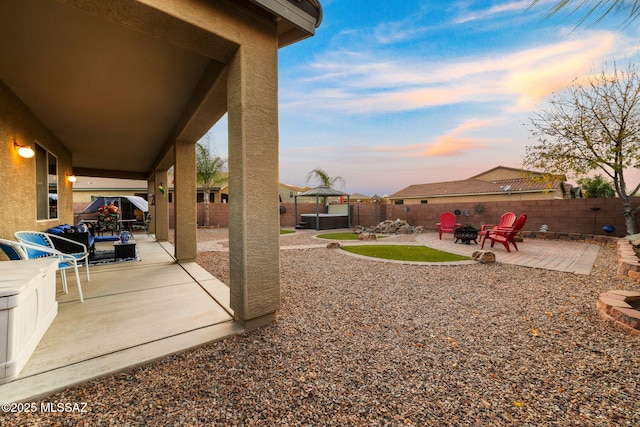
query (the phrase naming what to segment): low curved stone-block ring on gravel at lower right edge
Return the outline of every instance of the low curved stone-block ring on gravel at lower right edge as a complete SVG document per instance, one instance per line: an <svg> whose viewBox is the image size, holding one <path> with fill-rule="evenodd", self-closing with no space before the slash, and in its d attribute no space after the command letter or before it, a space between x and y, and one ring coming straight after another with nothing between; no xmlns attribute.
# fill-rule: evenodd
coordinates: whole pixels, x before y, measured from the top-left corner
<svg viewBox="0 0 640 427"><path fill-rule="evenodd" d="M603 292L598 298L598 309L614 325L640 336L640 292Z"/></svg>

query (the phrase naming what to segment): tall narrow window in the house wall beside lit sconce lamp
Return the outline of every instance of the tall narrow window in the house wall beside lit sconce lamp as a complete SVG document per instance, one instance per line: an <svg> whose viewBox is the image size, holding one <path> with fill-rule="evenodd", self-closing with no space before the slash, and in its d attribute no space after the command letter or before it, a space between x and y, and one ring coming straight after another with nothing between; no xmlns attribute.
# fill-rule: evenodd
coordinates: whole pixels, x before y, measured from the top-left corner
<svg viewBox="0 0 640 427"><path fill-rule="evenodd" d="M37 219L58 218L58 159L36 146L36 210Z"/></svg>

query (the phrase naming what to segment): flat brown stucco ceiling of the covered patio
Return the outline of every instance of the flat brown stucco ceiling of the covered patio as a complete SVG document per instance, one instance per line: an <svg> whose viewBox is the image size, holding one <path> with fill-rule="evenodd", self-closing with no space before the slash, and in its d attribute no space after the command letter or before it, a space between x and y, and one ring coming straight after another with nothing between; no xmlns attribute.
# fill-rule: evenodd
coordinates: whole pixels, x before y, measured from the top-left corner
<svg viewBox="0 0 640 427"><path fill-rule="evenodd" d="M0 1L0 78L74 168L145 173L210 59L50 0Z"/></svg>

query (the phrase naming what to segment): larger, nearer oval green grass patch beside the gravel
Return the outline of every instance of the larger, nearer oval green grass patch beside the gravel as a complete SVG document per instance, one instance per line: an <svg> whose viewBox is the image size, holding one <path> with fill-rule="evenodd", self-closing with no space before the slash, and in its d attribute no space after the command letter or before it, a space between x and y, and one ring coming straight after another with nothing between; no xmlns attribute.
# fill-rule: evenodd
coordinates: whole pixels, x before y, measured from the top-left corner
<svg viewBox="0 0 640 427"><path fill-rule="evenodd" d="M398 261L450 262L466 261L471 258L417 245L362 245L344 246L342 250L374 258Z"/></svg>

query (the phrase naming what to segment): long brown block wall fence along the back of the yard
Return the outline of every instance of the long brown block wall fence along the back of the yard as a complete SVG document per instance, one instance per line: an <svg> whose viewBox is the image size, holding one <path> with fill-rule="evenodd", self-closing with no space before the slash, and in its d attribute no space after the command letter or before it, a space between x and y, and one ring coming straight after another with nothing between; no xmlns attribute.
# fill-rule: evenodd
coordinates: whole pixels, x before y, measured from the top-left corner
<svg viewBox="0 0 640 427"><path fill-rule="evenodd" d="M633 200L633 206L640 204L640 198ZM301 203L297 206L298 218L294 218L294 204L280 204L280 225L294 227L300 222L300 214L315 213L313 203ZM478 228L482 224L497 223L500 216L512 211L516 215L527 214L524 231L538 231L547 225L549 232L578 234L607 234L605 225L615 227L611 233L615 237L626 235L626 226L622 217L622 202L619 199L564 199L501 201L486 203L438 203L420 205L392 205L386 203L352 203L352 225L370 227L381 221L397 218L413 226L423 226L427 230L437 230L436 223L442 212L459 211L458 222L471 224ZM283 209L284 207L284 209ZM226 228L229 226L229 205L211 203L209 205L209 225ZM597 208L597 210L595 210ZM173 204L169 204L170 226L173 227ZM639 217L640 218L640 217ZM198 225L204 224L203 204L198 204ZM636 221L640 230L640 221Z"/></svg>

